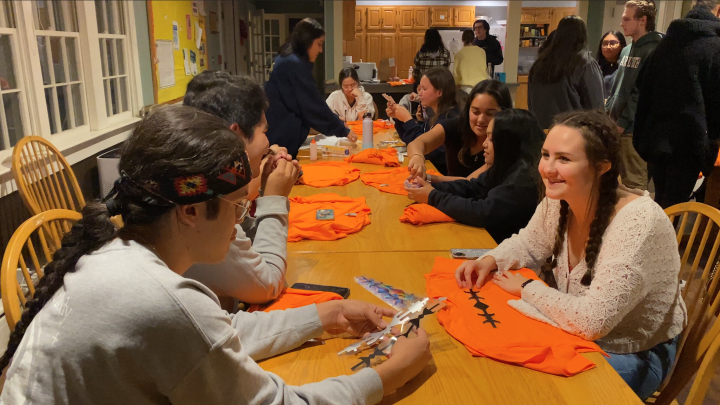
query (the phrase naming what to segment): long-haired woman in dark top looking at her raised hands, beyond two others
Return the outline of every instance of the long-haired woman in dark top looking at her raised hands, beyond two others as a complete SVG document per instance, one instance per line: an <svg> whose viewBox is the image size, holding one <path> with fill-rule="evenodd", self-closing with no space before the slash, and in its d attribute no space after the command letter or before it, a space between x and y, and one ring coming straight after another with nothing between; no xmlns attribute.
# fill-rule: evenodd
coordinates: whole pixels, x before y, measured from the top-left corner
<svg viewBox="0 0 720 405"><path fill-rule="evenodd" d="M388 102L385 110L388 117L395 120L395 129L406 144L429 131L438 122L460 115L455 79L444 67L434 67L425 72L420 79L415 100L419 101L421 106L418 108L417 119L414 119L405 107L393 102ZM423 118L422 109L432 110L433 115ZM426 158L433 162L440 173L447 172L444 149L429 151Z"/></svg>

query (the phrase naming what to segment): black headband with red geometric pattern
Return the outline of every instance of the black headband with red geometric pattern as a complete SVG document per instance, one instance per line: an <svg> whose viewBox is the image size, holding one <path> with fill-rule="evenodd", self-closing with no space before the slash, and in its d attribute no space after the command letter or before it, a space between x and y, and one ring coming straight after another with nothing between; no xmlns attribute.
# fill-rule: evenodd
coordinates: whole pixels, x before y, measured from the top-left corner
<svg viewBox="0 0 720 405"><path fill-rule="evenodd" d="M238 154L233 162L224 166L220 172L158 177L143 182L136 182L123 172L118 179L119 182L129 181L143 188L148 192L143 197L143 201L154 205L197 204L235 192L250 180L252 180L252 169L250 169L250 159L245 152Z"/></svg>

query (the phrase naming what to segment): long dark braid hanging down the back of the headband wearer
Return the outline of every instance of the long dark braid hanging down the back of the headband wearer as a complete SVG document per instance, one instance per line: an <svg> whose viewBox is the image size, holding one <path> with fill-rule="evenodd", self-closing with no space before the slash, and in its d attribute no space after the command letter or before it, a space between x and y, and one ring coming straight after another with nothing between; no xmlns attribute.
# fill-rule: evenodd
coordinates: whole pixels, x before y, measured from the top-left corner
<svg viewBox="0 0 720 405"><path fill-rule="evenodd" d="M99 249L115 237L115 226L110 222L104 204L91 202L83 208L82 214L82 219L63 237L62 247L53 254L53 261L45 268L45 277L40 279L35 295L25 305L20 321L10 334L7 351L0 358L0 370L10 363L25 331L38 312L62 287L65 275L75 271L75 265L83 255Z"/></svg>

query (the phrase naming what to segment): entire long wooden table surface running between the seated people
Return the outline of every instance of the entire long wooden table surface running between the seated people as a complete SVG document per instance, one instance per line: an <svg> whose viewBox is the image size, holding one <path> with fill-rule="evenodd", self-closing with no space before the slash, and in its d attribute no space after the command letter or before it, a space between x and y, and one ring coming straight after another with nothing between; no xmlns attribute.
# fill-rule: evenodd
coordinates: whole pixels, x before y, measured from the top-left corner
<svg viewBox="0 0 720 405"><path fill-rule="evenodd" d="M375 141L393 138L394 131L376 135ZM337 158L334 158L337 160ZM300 161L308 164L306 151ZM362 171L380 166L357 164ZM332 242L289 243L287 282L347 287L351 298L384 305L359 286L354 277L368 276L407 291L425 295L425 277L437 256L449 257L451 248L493 248L484 229L458 224L413 226L398 221L404 196L382 193L360 180L343 187L296 186L291 196L334 192L365 196L373 223L357 234ZM445 332L435 317L423 320L430 335L432 362L406 386L385 397L383 404L642 404L640 399L598 353L583 354L596 368L574 377L558 377L498 361L472 357ZM349 375L357 356L337 353L356 339L333 338L262 361L260 365L287 383L301 385Z"/></svg>

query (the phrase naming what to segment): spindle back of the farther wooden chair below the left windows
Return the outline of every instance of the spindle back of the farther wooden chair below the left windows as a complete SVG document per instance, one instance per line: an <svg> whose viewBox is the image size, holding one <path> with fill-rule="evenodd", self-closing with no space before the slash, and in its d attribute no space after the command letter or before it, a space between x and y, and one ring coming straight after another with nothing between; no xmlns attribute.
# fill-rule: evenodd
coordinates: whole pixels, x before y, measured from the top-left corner
<svg viewBox="0 0 720 405"><path fill-rule="evenodd" d="M70 164L46 139L22 138L15 145L12 162L20 197L32 215L52 209L79 212L85 206Z"/></svg>

